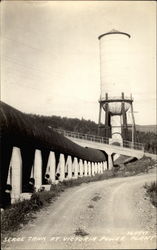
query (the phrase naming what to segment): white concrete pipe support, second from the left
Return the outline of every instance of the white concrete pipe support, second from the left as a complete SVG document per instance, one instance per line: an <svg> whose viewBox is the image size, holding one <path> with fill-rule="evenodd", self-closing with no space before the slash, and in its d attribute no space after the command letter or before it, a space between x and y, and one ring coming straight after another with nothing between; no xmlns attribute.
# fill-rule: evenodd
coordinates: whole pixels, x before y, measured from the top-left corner
<svg viewBox="0 0 157 250"><path fill-rule="evenodd" d="M35 150L34 179L35 179L36 190L38 190L42 185L42 156L41 156L41 151L39 149Z"/></svg>

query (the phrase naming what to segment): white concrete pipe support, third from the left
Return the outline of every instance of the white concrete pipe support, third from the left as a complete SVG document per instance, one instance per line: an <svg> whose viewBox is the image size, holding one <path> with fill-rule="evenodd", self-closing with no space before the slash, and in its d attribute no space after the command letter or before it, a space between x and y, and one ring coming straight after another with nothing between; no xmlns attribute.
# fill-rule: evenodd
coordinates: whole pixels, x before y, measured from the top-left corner
<svg viewBox="0 0 157 250"><path fill-rule="evenodd" d="M52 183L55 183L55 171L56 171L56 157L55 153L50 151L48 163L47 163L47 169L49 169L49 175L52 180Z"/></svg>

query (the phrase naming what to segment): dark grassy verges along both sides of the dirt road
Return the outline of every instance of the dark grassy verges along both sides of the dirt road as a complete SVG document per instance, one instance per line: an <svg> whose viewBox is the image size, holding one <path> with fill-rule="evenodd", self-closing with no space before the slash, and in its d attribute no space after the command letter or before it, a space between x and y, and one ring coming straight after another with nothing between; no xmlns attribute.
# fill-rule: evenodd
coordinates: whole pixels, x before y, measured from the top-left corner
<svg viewBox="0 0 157 250"><path fill-rule="evenodd" d="M140 173L147 173L150 168L153 168L155 162L150 158L143 157L134 163L129 163L125 168L114 168L113 170L106 170L103 174L96 174L92 177L82 177L63 181L58 185L52 185L50 191L43 191L34 193L30 200L19 201L13 204L9 209L6 209L1 214L1 232L2 238L11 235L17 231L23 224L33 219L33 214L41 208L53 203L56 197L66 188L78 186L82 183L105 180L115 177L127 177L137 175ZM148 188L148 193L151 194L151 199L154 202L154 184Z"/></svg>

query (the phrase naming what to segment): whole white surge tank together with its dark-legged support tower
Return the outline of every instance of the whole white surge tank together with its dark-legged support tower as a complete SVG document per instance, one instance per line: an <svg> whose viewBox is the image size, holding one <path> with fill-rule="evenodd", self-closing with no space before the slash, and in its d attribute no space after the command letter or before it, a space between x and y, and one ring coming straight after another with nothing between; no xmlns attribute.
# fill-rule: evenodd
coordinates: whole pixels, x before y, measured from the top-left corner
<svg viewBox="0 0 157 250"><path fill-rule="evenodd" d="M109 143L128 140L128 128L135 135L133 99L129 84L128 33L111 30L98 37L100 41L101 95L99 100L99 135L109 138ZM102 121L102 111L105 119ZM128 124L131 113L131 123ZM101 130L104 133L102 134Z"/></svg>

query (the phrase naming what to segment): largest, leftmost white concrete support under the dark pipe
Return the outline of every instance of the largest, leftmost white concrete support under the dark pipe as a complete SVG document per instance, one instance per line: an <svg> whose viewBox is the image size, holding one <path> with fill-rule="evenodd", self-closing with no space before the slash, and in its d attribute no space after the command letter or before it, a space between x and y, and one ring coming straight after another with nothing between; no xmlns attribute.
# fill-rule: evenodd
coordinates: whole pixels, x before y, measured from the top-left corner
<svg viewBox="0 0 157 250"><path fill-rule="evenodd" d="M12 200L13 202L20 197L22 192L22 158L20 148L13 147L12 156L10 160L10 167L12 169Z"/></svg>

